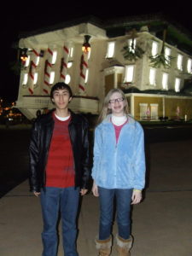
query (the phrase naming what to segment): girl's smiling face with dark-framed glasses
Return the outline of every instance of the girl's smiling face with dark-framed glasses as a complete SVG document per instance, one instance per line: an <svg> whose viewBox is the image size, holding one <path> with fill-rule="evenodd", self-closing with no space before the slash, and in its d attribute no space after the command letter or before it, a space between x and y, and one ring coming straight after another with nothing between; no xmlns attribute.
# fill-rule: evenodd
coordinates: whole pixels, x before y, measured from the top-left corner
<svg viewBox="0 0 192 256"><path fill-rule="evenodd" d="M123 116L125 104L123 96L119 92L114 92L108 102L108 108L112 110L113 115Z"/></svg>

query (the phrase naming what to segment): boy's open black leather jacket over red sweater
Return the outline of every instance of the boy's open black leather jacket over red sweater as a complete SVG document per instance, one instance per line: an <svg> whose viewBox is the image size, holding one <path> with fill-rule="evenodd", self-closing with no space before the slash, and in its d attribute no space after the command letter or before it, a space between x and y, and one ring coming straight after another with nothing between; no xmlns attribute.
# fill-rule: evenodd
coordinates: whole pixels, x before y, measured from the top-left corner
<svg viewBox="0 0 192 256"><path fill-rule="evenodd" d="M88 140L88 122L83 116L72 111L68 125L73 148L75 166L75 187L87 189L90 179L90 155ZM30 190L40 192L45 185L45 167L49 145L54 129L53 111L43 114L35 121L29 146L30 158Z"/></svg>

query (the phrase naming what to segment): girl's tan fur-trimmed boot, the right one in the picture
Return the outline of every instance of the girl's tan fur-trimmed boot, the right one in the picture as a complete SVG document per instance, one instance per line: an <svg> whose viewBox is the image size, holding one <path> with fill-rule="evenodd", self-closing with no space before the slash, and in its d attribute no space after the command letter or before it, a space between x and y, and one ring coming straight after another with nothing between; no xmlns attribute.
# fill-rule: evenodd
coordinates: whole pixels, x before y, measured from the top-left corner
<svg viewBox="0 0 192 256"><path fill-rule="evenodd" d="M123 239L116 236L118 256L130 256L130 249L132 246L132 236L129 239Z"/></svg>

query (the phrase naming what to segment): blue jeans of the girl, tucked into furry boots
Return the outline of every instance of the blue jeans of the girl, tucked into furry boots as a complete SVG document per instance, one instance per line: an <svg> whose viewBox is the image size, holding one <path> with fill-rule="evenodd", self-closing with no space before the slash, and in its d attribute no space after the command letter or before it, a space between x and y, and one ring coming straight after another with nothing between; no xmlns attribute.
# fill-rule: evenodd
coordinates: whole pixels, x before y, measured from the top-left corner
<svg viewBox="0 0 192 256"><path fill-rule="evenodd" d="M98 192L100 201L99 240L106 240L111 235L114 198L117 206L119 236L128 239L131 232L132 189L103 189L99 187Z"/></svg>

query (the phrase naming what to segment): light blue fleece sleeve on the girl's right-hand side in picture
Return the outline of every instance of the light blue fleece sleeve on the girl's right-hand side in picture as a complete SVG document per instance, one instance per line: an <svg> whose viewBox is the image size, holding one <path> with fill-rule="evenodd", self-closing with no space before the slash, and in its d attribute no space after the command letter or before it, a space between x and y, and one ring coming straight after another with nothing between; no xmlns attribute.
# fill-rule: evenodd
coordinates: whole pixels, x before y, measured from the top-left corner
<svg viewBox="0 0 192 256"><path fill-rule="evenodd" d="M134 189L143 189L145 185L145 152L142 126L136 122L135 143L133 153Z"/></svg>

